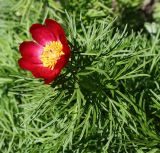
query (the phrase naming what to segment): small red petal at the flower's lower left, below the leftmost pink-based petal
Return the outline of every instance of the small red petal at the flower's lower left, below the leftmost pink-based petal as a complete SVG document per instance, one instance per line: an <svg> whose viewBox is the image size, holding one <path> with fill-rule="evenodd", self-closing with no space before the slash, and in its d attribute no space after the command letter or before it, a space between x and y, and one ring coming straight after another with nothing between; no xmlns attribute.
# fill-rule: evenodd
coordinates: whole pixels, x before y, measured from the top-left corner
<svg viewBox="0 0 160 153"><path fill-rule="evenodd" d="M35 67L37 67L39 65L39 64L31 63L30 61L27 61L23 58L21 58L18 61L18 64L22 69L29 70L29 71L32 71Z"/></svg>

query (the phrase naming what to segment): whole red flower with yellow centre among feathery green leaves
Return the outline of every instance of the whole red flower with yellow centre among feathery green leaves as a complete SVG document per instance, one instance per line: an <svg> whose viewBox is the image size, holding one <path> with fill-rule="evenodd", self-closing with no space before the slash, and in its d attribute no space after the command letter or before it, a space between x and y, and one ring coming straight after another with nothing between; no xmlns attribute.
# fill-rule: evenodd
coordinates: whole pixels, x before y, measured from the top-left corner
<svg viewBox="0 0 160 153"><path fill-rule="evenodd" d="M21 43L19 50L22 58L18 63L36 78L50 83L60 74L70 57L65 33L61 25L51 19L46 19L45 25L33 24L30 33L35 41Z"/></svg>

